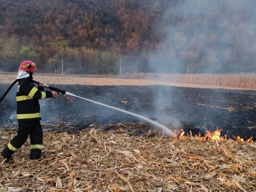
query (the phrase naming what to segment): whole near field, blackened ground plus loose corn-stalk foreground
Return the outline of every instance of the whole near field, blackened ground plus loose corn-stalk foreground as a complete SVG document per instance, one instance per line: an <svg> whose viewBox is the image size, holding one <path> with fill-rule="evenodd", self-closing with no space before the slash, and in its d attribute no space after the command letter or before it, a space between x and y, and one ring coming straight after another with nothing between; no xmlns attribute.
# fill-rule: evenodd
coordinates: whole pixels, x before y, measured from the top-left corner
<svg viewBox="0 0 256 192"><path fill-rule="evenodd" d="M185 138L166 138L147 122L68 95L42 100L47 157L28 160L29 140L11 164L0 157L0 191L256 191L255 143L192 137L218 126L222 137L256 138L254 90L136 86L138 81L119 85L127 84L126 79L109 80L118 86L89 86L75 84L74 78L40 79L170 129L184 129ZM0 84L0 95L12 80L1 81L8 84ZM0 149L16 134L11 129L17 128L15 92L14 87L1 102Z"/></svg>

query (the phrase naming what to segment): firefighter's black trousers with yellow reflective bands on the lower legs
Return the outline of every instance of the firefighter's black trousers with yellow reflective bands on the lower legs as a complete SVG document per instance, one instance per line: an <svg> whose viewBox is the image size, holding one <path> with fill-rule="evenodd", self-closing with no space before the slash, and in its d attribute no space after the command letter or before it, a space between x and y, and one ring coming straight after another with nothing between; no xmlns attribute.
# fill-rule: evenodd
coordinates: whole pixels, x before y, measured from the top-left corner
<svg viewBox="0 0 256 192"><path fill-rule="evenodd" d="M18 132L15 137L8 143L2 151L5 158L11 158L30 137L30 159L38 159L41 157L43 144L43 130L40 120L26 121L18 123Z"/></svg>

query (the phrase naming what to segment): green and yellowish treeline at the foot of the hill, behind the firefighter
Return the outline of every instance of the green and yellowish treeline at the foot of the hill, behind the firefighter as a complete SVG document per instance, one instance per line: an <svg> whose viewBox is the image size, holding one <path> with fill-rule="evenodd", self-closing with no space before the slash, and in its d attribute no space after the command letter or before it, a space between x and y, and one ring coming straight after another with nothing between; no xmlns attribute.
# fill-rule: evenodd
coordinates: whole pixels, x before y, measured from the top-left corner
<svg viewBox="0 0 256 192"><path fill-rule="evenodd" d="M17 36L7 39L0 37L0 71L17 72L20 63L27 59L35 62L39 72L43 73L60 73L62 59L64 73L67 74L115 75L120 70L120 56L117 53L84 46L70 47L68 40L50 42L45 46L23 41Z"/></svg>

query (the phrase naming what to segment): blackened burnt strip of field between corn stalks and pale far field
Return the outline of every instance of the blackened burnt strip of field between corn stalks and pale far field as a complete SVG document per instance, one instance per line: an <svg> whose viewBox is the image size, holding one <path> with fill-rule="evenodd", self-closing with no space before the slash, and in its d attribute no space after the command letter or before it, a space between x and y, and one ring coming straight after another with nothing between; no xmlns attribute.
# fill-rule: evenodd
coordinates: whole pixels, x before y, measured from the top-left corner
<svg viewBox="0 0 256 192"><path fill-rule="evenodd" d="M0 84L0 95L9 84ZM0 126L14 127L16 122L16 86L1 102ZM187 134L214 131L218 126L228 137L256 137L255 91L152 86L86 86L59 85L68 92L146 116L172 129L184 129ZM140 123L137 117L115 111L68 95L41 100L44 128L65 130L66 125L84 129L100 125L111 130L111 124ZM56 124L58 124L56 126ZM52 125L52 126L51 126ZM53 126L54 125L54 126ZM140 124L137 132L154 128ZM114 128L113 128L114 129Z"/></svg>

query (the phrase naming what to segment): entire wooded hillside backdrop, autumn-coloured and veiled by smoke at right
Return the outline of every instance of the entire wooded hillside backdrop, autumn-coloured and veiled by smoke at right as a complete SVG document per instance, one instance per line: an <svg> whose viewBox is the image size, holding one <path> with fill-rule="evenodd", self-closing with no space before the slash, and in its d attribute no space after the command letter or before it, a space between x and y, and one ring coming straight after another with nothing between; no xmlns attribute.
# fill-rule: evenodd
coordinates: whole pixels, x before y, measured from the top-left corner
<svg viewBox="0 0 256 192"><path fill-rule="evenodd" d="M0 67L35 58L56 69L66 57L70 73L116 74L126 56L130 72L255 72L255 8L254 0L0 0Z"/></svg>

